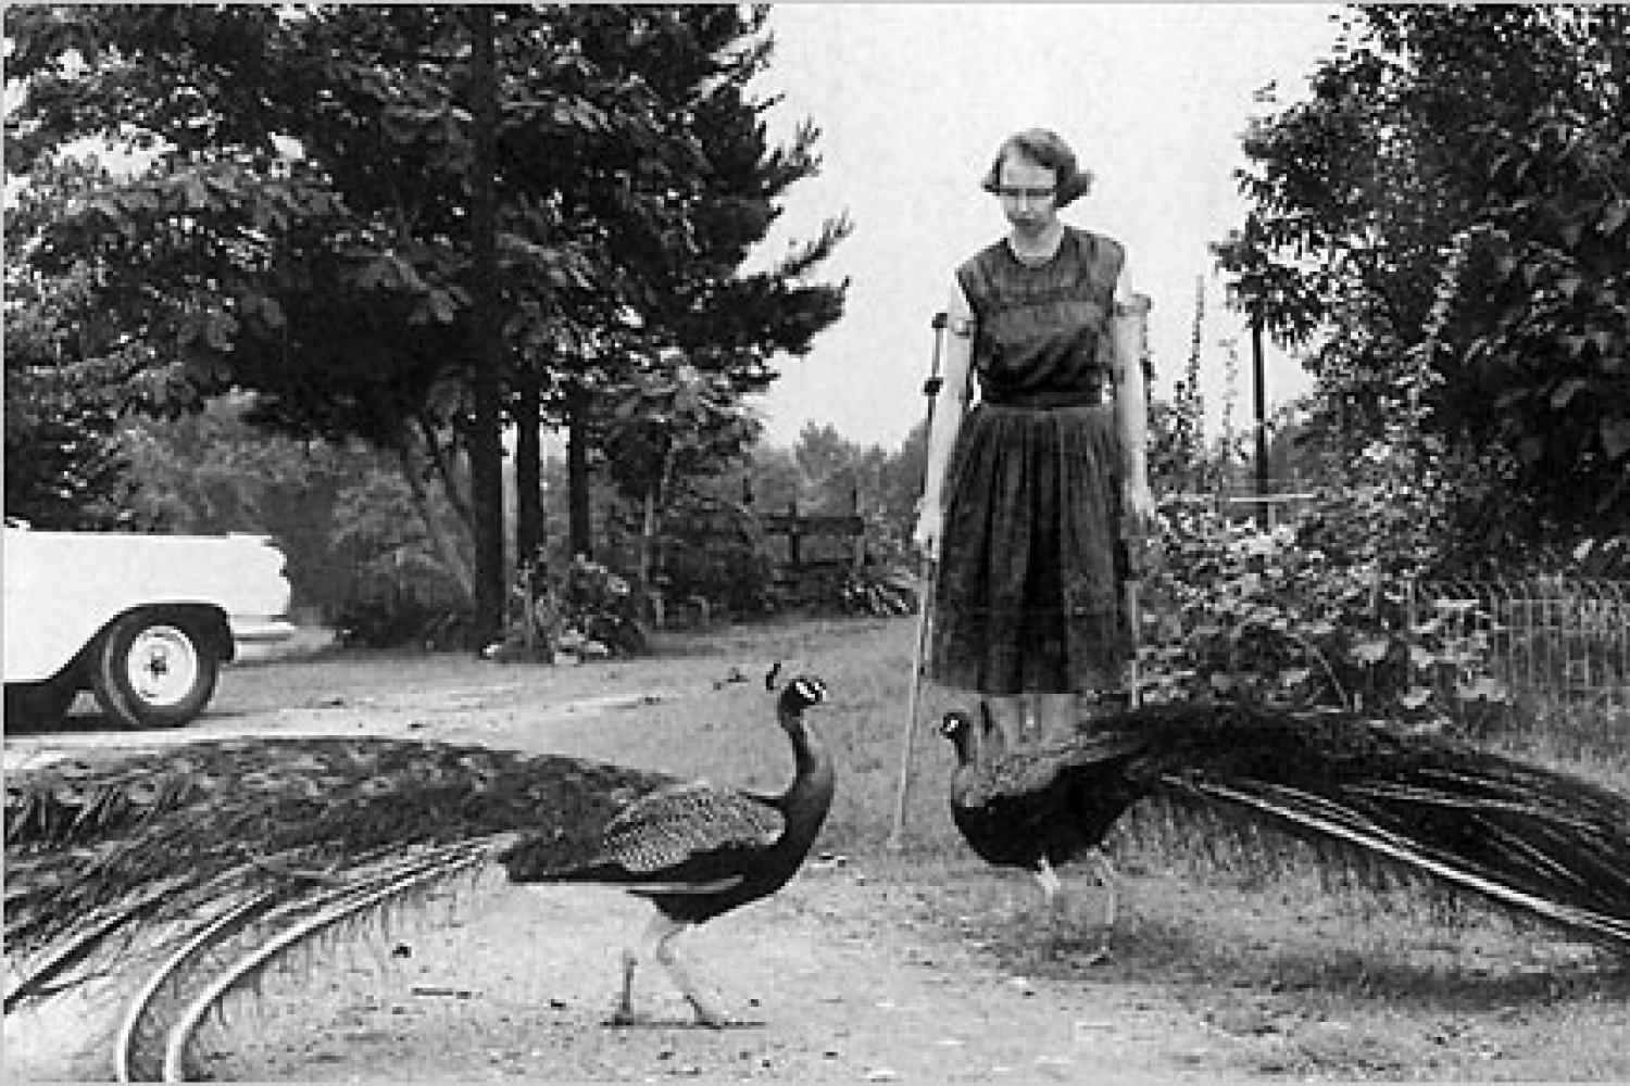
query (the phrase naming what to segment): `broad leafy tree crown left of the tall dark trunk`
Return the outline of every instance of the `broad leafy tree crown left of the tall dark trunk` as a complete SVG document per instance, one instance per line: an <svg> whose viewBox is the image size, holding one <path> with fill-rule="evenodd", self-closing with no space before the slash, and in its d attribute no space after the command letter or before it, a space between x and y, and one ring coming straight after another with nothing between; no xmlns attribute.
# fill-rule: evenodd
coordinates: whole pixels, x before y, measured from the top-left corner
<svg viewBox="0 0 1630 1086"><path fill-rule="evenodd" d="M434 440L458 422L474 361L455 195L468 137L456 65L434 63L456 54L456 24L158 7L31 10L8 29L28 78L13 171L34 181L80 138L145 163L68 207L33 254L42 275L96 269L142 376L165 378L139 405L258 389L264 422L362 436L414 477L409 427Z"/></svg>

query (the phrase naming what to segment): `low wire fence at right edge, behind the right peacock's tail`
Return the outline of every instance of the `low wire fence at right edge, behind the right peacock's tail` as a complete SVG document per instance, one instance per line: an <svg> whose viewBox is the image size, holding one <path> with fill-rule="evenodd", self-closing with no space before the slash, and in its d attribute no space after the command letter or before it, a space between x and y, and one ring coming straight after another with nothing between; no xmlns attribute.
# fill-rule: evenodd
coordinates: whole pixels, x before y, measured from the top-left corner
<svg viewBox="0 0 1630 1086"><path fill-rule="evenodd" d="M1416 581L1408 604L1462 687L1630 707L1630 581Z"/></svg>

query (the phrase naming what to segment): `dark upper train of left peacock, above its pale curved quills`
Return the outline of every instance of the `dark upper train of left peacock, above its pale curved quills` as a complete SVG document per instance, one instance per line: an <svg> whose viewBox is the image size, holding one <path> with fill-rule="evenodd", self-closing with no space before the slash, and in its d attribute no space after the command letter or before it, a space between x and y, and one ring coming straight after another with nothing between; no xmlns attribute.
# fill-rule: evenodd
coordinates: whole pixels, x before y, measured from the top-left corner
<svg viewBox="0 0 1630 1086"><path fill-rule="evenodd" d="M675 783L584 759L373 738L223 739L11 773L7 1009L101 962L163 957L248 902L261 902L264 930L274 915L375 889L383 905L518 843L580 863L624 806Z"/></svg>

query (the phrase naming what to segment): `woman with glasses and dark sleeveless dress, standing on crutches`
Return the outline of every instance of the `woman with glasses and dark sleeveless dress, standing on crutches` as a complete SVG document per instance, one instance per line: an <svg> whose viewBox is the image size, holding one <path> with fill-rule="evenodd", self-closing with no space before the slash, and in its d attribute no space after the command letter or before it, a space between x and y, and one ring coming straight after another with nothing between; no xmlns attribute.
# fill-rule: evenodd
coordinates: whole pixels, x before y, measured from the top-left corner
<svg viewBox="0 0 1630 1086"><path fill-rule="evenodd" d="M1154 510L1136 357L1148 300L1118 243L1058 218L1090 184L1053 132L1002 142L983 187L1011 228L957 269L927 443L927 674L983 695L1009 741L1069 729L1081 695L1123 689L1123 532Z"/></svg>

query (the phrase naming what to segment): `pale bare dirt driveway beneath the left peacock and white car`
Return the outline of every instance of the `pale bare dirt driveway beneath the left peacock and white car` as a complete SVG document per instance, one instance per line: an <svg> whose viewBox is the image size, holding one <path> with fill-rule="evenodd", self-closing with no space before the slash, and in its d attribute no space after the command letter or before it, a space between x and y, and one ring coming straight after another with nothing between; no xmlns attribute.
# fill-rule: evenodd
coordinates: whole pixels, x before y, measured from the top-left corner
<svg viewBox="0 0 1630 1086"><path fill-rule="evenodd" d="M398 687L365 669L298 685L298 668L228 672L184 741L223 733L368 733L553 747L598 755L593 725L647 698L717 685L716 661L471 671L427 658ZM336 672L352 674L352 672ZM474 679L474 681L473 681ZM82 713L88 712L85 707ZM82 744L150 742L82 718L49 736L10 736L7 767ZM1170 1081L1214 1079L1224 1034L1165 996L1121 983L1015 975L976 941L927 920L924 879L988 879L976 863L825 856L779 896L694 931L686 956L748 1024L688 1026L660 975L637 998L652 1021L603 1024L618 951L649 907L603 889L522 889L500 878L398 917L310 969L243 996L199 1052L214 1078L284 1081ZM1032 894L1014 881L1014 896ZM78 1019L64 1018L78 1014ZM59 1008L7 1019L8 1078L106 1078L85 1050L106 1011Z"/></svg>

